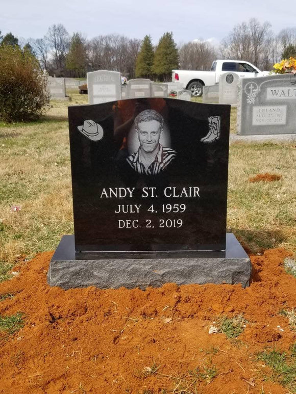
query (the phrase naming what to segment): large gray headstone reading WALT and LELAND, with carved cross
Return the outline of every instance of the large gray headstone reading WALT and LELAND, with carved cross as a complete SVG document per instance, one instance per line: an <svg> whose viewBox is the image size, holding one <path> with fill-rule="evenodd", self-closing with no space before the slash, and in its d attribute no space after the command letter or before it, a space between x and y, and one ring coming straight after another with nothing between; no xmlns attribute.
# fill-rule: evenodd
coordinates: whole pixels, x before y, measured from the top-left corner
<svg viewBox="0 0 296 394"><path fill-rule="evenodd" d="M295 75L242 78L238 91L238 134L296 133Z"/></svg>

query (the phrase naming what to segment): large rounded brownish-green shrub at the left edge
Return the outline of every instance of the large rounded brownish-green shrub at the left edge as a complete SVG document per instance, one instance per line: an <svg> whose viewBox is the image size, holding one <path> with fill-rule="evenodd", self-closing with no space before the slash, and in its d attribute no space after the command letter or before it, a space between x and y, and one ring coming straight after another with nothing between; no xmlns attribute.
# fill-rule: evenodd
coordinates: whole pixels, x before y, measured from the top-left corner
<svg viewBox="0 0 296 394"><path fill-rule="evenodd" d="M18 46L1 46L0 119L36 119L45 112L48 102L47 76L35 56Z"/></svg>

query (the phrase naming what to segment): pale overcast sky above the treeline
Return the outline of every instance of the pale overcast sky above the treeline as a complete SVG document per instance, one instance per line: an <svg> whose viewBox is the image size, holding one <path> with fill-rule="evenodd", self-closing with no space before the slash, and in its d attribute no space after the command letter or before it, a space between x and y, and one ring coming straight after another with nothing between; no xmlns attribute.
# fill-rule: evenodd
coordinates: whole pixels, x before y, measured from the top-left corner
<svg viewBox="0 0 296 394"><path fill-rule="evenodd" d="M283 5L281 7L281 5ZM278 34L296 27L295 10L279 0L0 0L0 30L18 38L42 38L53 24L62 23L69 34L88 39L110 33L154 44L165 32L175 41L211 39L218 42L234 25L255 17L268 21Z"/></svg>

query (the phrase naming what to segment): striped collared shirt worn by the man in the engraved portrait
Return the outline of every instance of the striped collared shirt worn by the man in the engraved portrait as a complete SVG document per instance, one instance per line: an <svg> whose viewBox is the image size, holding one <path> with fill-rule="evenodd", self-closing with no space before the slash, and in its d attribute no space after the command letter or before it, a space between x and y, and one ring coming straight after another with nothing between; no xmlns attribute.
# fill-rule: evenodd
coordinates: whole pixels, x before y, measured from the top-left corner
<svg viewBox="0 0 296 394"><path fill-rule="evenodd" d="M177 154L175 150L170 148L165 148L159 144L159 152L157 153L154 162L151 163L151 165L146 169L143 163L141 163L139 160L140 149L141 148L139 148L135 153L127 157L127 162L136 172L144 175L159 174L162 170L164 170L167 167L167 165L172 160L174 160Z"/></svg>

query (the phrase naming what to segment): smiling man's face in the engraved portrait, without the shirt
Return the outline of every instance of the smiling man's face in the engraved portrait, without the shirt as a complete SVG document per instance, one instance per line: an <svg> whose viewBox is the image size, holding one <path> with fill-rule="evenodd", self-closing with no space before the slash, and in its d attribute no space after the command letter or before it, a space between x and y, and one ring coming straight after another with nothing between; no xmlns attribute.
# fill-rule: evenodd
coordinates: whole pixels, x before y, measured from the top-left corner
<svg viewBox="0 0 296 394"><path fill-rule="evenodd" d="M144 152L152 153L158 148L161 133L161 124L157 120L153 119L138 124L138 139Z"/></svg>

